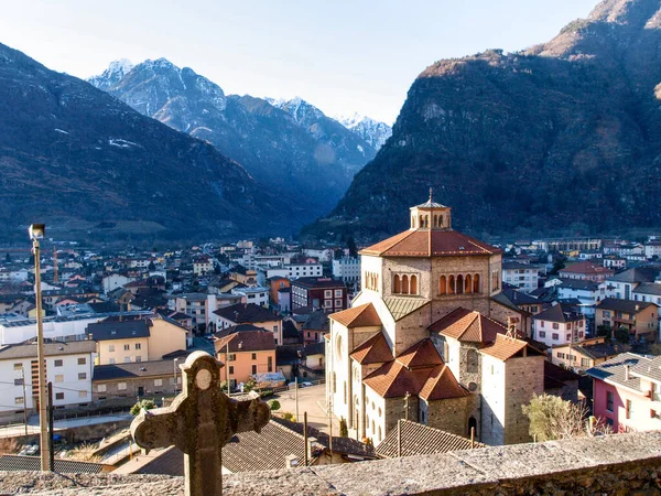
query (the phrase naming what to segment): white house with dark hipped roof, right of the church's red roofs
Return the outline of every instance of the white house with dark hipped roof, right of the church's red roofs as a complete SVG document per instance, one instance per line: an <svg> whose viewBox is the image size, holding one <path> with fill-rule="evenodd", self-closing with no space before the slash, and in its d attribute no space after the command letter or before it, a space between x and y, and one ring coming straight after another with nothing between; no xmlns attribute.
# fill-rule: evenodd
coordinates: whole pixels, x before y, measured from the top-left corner
<svg viewBox="0 0 661 496"><path fill-rule="evenodd" d="M549 347L585 341L585 315L557 303L532 317L532 338Z"/></svg>

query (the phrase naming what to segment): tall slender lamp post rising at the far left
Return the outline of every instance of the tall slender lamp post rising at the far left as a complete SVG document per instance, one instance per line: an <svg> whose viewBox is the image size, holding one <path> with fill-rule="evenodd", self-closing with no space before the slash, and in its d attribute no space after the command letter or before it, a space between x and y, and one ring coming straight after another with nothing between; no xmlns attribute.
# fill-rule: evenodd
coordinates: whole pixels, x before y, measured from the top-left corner
<svg viewBox="0 0 661 496"><path fill-rule="evenodd" d="M41 294L41 254L39 240L44 237L45 224L32 224L28 233L32 239L32 251L34 252L34 292L36 300L36 362L39 369L39 431L41 450L41 470L50 471L51 450L48 446L48 419L46 417L46 364L44 356L44 326L42 317Z"/></svg>

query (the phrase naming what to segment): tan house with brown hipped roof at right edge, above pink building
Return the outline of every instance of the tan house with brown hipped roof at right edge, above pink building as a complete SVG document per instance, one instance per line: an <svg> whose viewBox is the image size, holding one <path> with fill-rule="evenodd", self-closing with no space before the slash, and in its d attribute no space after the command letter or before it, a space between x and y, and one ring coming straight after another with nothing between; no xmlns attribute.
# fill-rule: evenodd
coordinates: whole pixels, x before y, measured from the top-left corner
<svg viewBox="0 0 661 496"><path fill-rule="evenodd" d="M596 308L595 323L614 331L626 328L632 339L659 338L659 306L651 302L607 298Z"/></svg>

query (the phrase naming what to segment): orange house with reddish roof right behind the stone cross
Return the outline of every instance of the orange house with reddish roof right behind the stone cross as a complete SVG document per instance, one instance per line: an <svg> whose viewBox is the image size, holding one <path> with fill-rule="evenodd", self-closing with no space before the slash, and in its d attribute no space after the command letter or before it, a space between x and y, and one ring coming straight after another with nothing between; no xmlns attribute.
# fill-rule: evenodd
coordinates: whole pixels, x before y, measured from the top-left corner
<svg viewBox="0 0 661 496"><path fill-rule="evenodd" d="M225 364L220 377L232 387L258 374L275 371L273 332L252 324L239 324L215 334L216 357Z"/></svg>

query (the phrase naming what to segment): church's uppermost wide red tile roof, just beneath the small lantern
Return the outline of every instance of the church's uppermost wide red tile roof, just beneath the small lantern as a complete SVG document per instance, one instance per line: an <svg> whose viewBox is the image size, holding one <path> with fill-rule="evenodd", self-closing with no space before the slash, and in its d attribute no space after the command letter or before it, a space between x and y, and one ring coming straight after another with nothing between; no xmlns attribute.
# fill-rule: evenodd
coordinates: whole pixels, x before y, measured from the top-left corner
<svg viewBox="0 0 661 496"><path fill-rule="evenodd" d="M360 250L361 255L381 257L494 255L501 250L456 230L411 229Z"/></svg>

